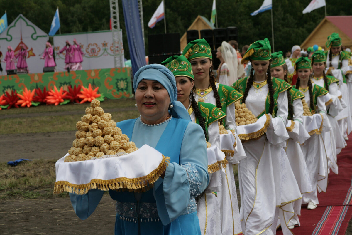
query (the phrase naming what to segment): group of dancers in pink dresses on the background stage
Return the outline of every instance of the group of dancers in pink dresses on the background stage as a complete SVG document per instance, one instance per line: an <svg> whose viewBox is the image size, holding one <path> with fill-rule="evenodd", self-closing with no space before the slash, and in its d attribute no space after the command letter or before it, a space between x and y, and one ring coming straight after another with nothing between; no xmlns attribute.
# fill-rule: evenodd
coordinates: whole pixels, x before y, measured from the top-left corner
<svg viewBox="0 0 352 235"><path fill-rule="evenodd" d="M77 40L73 40L73 45L66 40L66 45L57 53L62 54L65 51L65 67L64 69L68 72L75 70L82 70L83 55L81 46L77 43ZM4 60L2 60L2 53L0 51L0 60L6 63L5 75L7 70L17 69L17 73L29 73L26 57L28 55L27 47L24 43L20 44L20 49L17 53L14 52L11 46L7 47ZM45 50L42 53L41 59L44 59L44 67L55 67L55 54L54 49L48 40L45 44ZM17 65L15 63L17 62ZM2 74L2 67L0 63L0 72Z"/></svg>

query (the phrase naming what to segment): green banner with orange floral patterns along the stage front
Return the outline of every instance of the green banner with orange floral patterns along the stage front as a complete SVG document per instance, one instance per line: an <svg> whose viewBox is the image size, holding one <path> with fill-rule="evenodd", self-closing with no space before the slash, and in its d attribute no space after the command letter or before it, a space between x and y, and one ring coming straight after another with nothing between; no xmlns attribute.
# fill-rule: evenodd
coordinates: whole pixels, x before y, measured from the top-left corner
<svg viewBox="0 0 352 235"><path fill-rule="evenodd" d="M98 91L108 99L132 97L131 68L90 69L71 72L34 73L21 75L0 76L0 95L11 90L20 91L25 87L47 90L63 87L68 91L68 86L82 85L92 88L99 87Z"/></svg>

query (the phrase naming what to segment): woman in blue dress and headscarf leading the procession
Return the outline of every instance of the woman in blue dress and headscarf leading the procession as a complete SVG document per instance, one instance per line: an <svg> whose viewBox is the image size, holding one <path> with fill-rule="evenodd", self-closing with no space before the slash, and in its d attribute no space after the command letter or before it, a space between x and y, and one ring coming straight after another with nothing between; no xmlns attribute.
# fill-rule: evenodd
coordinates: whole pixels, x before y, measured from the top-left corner
<svg viewBox="0 0 352 235"><path fill-rule="evenodd" d="M195 198L209 183L204 131L177 101L175 77L165 66L140 68L133 88L140 116L117 126L138 148L147 144L170 157L170 163L146 192L109 190L117 201L115 234L200 234ZM88 218L102 196L100 190L70 193L76 215Z"/></svg>

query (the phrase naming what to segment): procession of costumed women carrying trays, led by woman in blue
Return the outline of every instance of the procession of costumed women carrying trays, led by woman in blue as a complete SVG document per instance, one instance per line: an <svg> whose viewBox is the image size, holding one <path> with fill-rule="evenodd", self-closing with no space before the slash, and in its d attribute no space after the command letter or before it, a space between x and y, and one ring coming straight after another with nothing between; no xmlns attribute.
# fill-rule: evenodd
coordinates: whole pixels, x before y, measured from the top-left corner
<svg viewBox="0 0 352 235"><path fill-rule="evenodd" d="M325 51L308 55L295 45L285 59L267 38L243 55L237 42L223 42L214 75L212 50L197 39L182 55L140 68L133 79L140 116L117 126L137 147L171 159L150 190L109 190L115 234L273 235L280 225L293 234L304 223L301 209L314 210L329 172L338 174L337 155L352 130L351 53L341 45L333 33ZM67 42L62 51L70 48ZM243 125L248 113L257 120ZM240 127L263 120L264 134L240 138ZM212 168L212 157L223 164ZM102 196L92 189L70 200L86 219Z"/></svg>

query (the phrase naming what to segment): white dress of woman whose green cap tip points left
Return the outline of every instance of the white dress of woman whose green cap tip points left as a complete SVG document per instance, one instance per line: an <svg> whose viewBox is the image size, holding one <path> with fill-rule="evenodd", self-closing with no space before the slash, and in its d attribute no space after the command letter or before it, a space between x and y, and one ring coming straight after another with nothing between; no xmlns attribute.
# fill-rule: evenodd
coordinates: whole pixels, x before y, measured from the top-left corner
<svg viewBox="0 0 352 235"><path fill-rule="evenodd" d="M254 116L264 111L268 92L268 84L259 89L250 88L246 106ZM277 99L277 117L271 118L266 136L243 143L247 157L240 160L239 184L240 218L245 235L275 234L279 216L281 224L287 225L280 206L301 198L299 187L283 150L289 138L285 127L288 122L287 104L287 92L281 92ZM288 228L284 228L287 226L283 226L284 234L291 234Z"/></svg>

